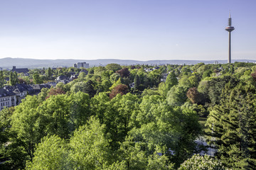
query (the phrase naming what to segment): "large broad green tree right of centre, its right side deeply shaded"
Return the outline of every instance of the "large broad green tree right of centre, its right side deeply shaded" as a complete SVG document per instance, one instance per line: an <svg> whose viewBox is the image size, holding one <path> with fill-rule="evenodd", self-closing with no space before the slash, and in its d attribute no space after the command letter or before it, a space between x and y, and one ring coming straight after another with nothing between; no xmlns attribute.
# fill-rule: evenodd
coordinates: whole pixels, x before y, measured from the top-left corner
<svg viewBox="0 0 256 170"><path fill-rule="evenodd" d="M201 133L195 111L173 108L161 96L144 96L136 121L137 128L133 128L129 135L134 141L145 144L147 154L161 148L161 153L178 165L195 152L194 140Z"/></svg>

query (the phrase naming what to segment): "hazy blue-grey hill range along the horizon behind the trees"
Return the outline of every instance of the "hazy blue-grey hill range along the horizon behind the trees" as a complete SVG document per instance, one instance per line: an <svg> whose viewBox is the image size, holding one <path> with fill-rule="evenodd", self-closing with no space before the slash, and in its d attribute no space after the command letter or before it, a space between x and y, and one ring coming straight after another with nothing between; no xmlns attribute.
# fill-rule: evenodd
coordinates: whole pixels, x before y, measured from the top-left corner
<svg viewBox="0 0 256 170"><path fill-rule="evenodd" d="M99 60L36 60L26 58L2 58L0 59L0 67L11 69L13 66L17 68L43 68L43 67L72 67L77 62L87 62L90 67L106 65L110 63L117 63L121 65L132 64L197 64L204 62L206 64L213 64L215 61L218 63L227 63L227 60L117 60L117 59L99 59ZM256 60L232 60L232 62L256 62Z"/></svg>

